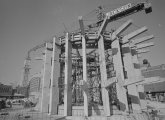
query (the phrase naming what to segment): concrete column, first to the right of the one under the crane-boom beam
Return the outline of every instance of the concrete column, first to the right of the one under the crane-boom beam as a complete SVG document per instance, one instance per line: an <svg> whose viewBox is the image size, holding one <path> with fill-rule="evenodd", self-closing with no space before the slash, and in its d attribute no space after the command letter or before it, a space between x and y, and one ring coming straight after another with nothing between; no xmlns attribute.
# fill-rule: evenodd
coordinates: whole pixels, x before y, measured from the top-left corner
<svg viewBox="0 0 165 120"><path fill-rule="evenodd" d="M116 53L113 55L113 61L114 61L114 68L116 70L116 77L118 80L118 83L116 84L116 91L119 100L120 110L128 111L126 89L119 84L124 82L124 71L123 71L123 63L122 63L119 39L117 38L115 41L113 41L111 46L112 49L116 50Z"/></svg>

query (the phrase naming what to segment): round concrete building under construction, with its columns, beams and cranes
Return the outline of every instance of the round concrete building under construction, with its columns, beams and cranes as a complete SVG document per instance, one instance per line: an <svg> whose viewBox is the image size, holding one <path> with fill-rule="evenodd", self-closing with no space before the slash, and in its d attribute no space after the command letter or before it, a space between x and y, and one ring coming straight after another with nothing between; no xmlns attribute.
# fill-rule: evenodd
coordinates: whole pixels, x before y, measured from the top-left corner
<svg viewBox="0 0 165 120"><path fill-rule="evenodd" d="M139 58L150 51L154 36L142 36L146 26L122 34L132 19L111 28L114 21L139 12L152 12L151 3L128 3L108 12L99 6L97 21L85 24L79 16L79 29L30 49L23 86L33 69L31 53L44 50L37 110L67 120L150 120Z"/></svg>

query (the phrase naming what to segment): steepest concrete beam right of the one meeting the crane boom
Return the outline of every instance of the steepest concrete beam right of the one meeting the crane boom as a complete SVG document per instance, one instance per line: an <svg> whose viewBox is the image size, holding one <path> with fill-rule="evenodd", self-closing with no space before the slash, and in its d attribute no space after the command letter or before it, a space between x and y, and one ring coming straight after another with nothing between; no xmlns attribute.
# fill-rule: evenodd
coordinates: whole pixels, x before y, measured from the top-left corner
<svg viewBox="0 0 165 120"><path fill-rule="evenodd" d="M127 27L132 24L132 20L128 20L121 27L119 27L111 36L111 40L113 41L121 32L123 32Z"/></svg>

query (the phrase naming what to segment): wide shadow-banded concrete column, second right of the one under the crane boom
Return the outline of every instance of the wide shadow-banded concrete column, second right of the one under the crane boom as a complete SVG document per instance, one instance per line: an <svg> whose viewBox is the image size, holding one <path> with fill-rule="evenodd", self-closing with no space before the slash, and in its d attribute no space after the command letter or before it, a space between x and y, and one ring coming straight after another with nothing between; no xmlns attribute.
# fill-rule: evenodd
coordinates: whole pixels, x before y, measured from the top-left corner
<svg viewBox="0 0 165 120"><path fill-rule="evenodd" d="M127 81L130 83L130 85L127 86L128 89L128 96L131 99L131 104L132 104L132 110L134 113L140 113L141 108L140 108L140 100L139 100L139 94L137 91L137 86L136 86L136 73L135 73L135 68L133 66L133 60L132 60L132 55L131 55L131 49L129 47L129 43L126 43L125 45L122 46L122 54L123 54L123 62L124 62L124 68L127 72Z"/></svg>

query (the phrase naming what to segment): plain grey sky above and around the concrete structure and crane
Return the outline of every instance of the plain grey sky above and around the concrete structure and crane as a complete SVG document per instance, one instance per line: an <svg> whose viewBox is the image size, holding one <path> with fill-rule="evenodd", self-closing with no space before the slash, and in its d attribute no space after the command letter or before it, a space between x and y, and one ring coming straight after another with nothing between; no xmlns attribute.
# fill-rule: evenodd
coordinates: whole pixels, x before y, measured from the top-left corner
<svg viewBox="0 0 165 120"><path fill-rule="evenodd" d="M27 51L52 39L61 31L76 28L78 16L92 21L92 17L95 17L93 10L99 5L113 10L129 2L141 1L143 0L0 0L0 82L20 82ZM143 36L153 34L155 46L149 53L143 54L142 59L148 59L151 66L155 66L165 64L165 1L148 1L152 4L152 13L146 15L142 11L114 24L117 28L123 21L132 19L134 30L147 26L148 31ZM110 27L111 25L113 23L110 23ZM41 63L33 61L32 64L39 66ZM33 68L31 74L39 69Z"/></svg>

